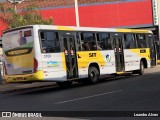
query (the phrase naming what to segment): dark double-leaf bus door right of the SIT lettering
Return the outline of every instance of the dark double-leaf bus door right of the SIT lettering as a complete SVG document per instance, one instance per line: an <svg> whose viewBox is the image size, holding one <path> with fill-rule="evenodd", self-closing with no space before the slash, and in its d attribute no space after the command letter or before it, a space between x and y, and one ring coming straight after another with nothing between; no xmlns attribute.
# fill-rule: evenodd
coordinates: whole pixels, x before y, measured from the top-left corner
<svg viewBox="0 0 160 120"><path fill-rule="evenodd" d="M115 53L116 71L124 71L124 53L121 36L113 36L113 48Z"/></svg>

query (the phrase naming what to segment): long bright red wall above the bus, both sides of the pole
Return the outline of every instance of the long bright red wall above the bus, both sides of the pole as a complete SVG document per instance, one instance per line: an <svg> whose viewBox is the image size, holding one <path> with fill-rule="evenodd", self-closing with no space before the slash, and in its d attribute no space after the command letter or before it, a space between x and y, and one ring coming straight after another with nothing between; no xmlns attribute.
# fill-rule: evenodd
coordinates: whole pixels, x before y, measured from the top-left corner
<svg viewBox="0 0 160 120"><path fill-rule="evenodd" d="M151 0L107 3L80 5L80 26L144 27L153 24ZM53 16L55 25L76 25L74 7L43 10L42 13L44 17Z"/></svg>

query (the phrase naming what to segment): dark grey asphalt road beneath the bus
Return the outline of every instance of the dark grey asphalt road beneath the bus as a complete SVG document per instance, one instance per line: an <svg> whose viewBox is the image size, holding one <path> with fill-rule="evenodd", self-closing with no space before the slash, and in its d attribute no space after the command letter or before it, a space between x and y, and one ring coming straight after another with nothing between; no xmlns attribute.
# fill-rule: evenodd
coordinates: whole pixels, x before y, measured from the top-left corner
<svg viewBox="0 0 160 120"><path fill-rule="evenodd" d="M88 86L75 83L67 89L54 86L0 93L0 111L65 111L62 114L78 111L73 113L78 117L91 117L92 114L96 117L107 116L106 112L98 111L125 111L122 114L128 111L131 114L134 111L160 111L160 74L106 79ZM160 112L155 114L160 117Z"/></svg>

